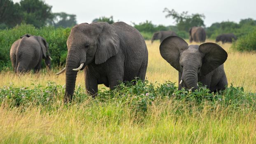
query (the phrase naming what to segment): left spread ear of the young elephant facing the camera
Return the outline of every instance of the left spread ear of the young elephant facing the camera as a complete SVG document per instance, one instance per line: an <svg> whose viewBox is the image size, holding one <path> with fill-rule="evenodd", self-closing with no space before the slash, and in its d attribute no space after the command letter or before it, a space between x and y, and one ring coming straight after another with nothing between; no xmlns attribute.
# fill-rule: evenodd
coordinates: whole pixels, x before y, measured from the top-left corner
<svg viewBox="0 0 256 144"><path fill-rule="evenodd" d="M185 49L188 49L189 44L184 39L177 36L170 36L163 40L160 44L161 56L168 62L172 67L181 72L179 67L179 55Z"/></svg>

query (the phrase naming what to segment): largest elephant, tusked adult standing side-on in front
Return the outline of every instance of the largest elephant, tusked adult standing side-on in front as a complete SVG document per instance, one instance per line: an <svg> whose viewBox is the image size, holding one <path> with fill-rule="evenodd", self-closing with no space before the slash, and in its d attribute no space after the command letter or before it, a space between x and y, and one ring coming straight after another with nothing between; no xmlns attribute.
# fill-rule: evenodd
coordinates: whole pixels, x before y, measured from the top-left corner
<svg viewBox="0 0 256 144"><path fill-rule="evenodd" d="M81 23L67 39L65 102L72 100L77 72L84 70L88 93L98 93L98 84L114 89L119 81L145 79L148 51L138 30L123 22Z"/></svg>

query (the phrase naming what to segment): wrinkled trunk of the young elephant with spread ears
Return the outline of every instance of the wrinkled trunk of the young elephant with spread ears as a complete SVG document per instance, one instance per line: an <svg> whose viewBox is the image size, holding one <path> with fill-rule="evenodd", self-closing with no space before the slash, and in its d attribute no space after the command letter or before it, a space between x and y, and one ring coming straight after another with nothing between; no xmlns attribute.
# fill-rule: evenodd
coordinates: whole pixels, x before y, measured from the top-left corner
<svg viewBox="0 0 256 144"><path fill-rule="evenodd" d="M193 68L189 67L189 69L186 69L184 67L183 69L183 78L184 78L184 82L187 86L188 89L191 89L192 91L195 91L196 89L198 89L198 75L197 75L197 71L193 70Z"/></svg>

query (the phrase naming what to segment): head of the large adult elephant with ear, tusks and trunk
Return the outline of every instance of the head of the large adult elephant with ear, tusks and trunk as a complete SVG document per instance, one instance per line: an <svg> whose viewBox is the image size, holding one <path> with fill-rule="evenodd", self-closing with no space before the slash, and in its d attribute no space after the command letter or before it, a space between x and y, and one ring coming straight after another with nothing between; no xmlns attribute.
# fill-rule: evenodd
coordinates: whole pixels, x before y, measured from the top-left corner
<svg viewBox="0 0 256 144"><path fill-rule="evenodd" d="M120 39L106 22L81 23L72 28L67 39L65 102L72 100L77 72L88 64L100 65L119 51Z"/></svg>

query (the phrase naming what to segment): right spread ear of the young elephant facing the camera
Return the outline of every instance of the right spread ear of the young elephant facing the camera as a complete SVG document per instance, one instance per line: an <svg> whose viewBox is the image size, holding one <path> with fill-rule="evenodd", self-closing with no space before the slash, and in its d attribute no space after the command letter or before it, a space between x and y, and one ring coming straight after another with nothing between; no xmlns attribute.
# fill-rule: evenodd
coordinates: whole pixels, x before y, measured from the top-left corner
<svg viewBox="0 0 256 144"><path fill-rule="evenodd" d="M228 58L228 53L221 46L215 43L207 42L199 46L202 52L202 67L200 73L203 75L212 72L214 69L222 65Z"/></svg>

